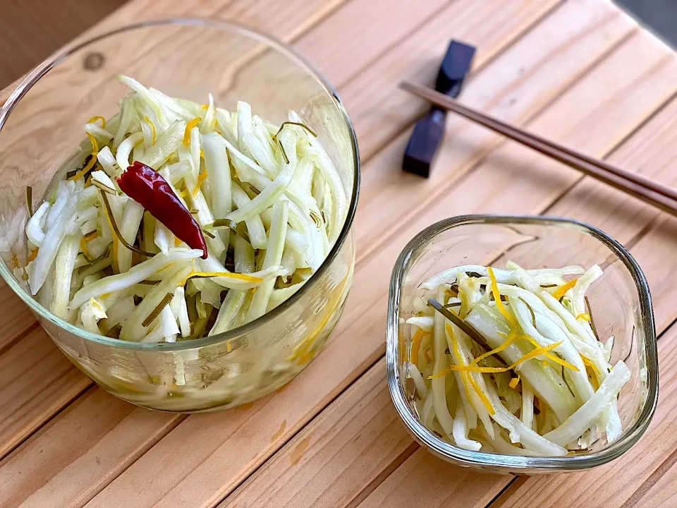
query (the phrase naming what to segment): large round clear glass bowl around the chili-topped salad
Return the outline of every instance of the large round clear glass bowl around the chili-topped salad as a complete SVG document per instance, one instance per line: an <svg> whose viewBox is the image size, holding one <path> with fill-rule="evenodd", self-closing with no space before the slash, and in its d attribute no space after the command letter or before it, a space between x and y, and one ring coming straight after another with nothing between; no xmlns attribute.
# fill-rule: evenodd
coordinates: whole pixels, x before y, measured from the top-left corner
<svg viewBox="0 0 677 508"><path fill-rule="evenodd" d="M85 140L92 116L118 110L130 75L173 97L238 100L276 123L293 109L312 127L350 202L327 260L290 299L224 334L139 344L90 334L59 319L24 289L25 188L38 203ZM331 85L292 49L219 20L161 20L73 44L32 71L0 109L0 272L61 351L121 399L164 411L226 409L269 394L312 361L336 325L355 260L351 226L359 188L355 132ZM37 206L37 205L35 205Z"/></svg>

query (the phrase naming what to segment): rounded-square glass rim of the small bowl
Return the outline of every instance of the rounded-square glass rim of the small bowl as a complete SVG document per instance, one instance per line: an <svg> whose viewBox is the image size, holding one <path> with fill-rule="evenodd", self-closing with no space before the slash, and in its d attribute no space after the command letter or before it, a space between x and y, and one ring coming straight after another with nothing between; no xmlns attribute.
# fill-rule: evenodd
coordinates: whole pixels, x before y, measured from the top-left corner
<svg viewBox="0 0 677 508"><path fill-rule="evenodd" d="M647 394L647 401L640 411L637 421L631 427L626 429L623 437L618 441L606 446L598 452L592 452L585 455L571 455L571 456L516 456L508 454L499 454L492 452L472 452L449 444L429 432L418 419L410 411L406 403L405 393L401 386L401 376L396 365L396 358L398 352L398 334L399 334L399 301L401 298L401 282L408 272L412 255L421 246L425 246L432 241L435 236L453 229L456 226L463 226L468 224L537 224L544 226L555 226L577 229L583 233L587 233L593 238L604 243L604 245L611 250L616 257L623 262L628 271L633 277L635 287L638 291L640 301L640 315L642 316L642 333L645 337L645 355L647 358L647 386L649 392ZM654 313L651 303L651 294L649 293L649 285L646 277L638 262L632 255L621 246L621 243L614 240L602 230L594 226L585 224L575 219L567 219L563 217L547 217L547 216L529 216L529 215L494 215L494 214L472 214L460 215L451 217L449 219L441 220L426 229L420 231L412 240L405 246L394 266L388 302L388 324L386 329L386 371L388 377L388 388L391 399L395 405L395 409L402 419L409 432L413 434L415 440L424 444L437 456L444 459L456 462L457 464L465 464L468 466L475 466L481 468L494 468L511 473L530 473L541 469L544 471L566 470L582 470L606 464L623 453L627 452L630 447L637 442L642 434L645 433L649 423L654 415L658 402L658 351L656 328L654 324Z"/></svg>

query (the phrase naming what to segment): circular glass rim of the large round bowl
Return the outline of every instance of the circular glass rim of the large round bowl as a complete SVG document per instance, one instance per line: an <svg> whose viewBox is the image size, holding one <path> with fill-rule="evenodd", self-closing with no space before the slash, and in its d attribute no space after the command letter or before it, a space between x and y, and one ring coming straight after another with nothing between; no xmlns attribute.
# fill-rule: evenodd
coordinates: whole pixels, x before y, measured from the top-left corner
<svg viewBox="0 0 677 508"><path fill-rule="evenodd" d="M240 337L243 334L248 334L252 330L257 329L258 327L265 325L270 320L273 320L275 317L283 314L288 308L291 308L293 304L298 301L303 295L307 294L313 286L317 283L319 277L324 274L329 269L331 262L334 261L338 252L343 247L350 233L350 228L353 226L353 221L355 219L355 212L357 211L358 205L358 195L360 193L360 151L358 148L357 135L355 134L355 128L353 128L353 123L348 117L346 108L343 106L343 102L338 98L336 90L329 83L329 80L322 75L319 69L315 64L311 63L304 56L301 56L291 47L290 44L286 44L277 40L274 37L265 35L262 32L248 28L244 25L238 23L232 23L226 20L219 20L214 18L163 18L156 20L147 20L141 21L139 23L130 23L112 28L111 30L105 30L104 32L98 33L91 37L87 37L85 40L76 40L70 44L66 44L65 47L60 49L58 52L51 54L45 61L40 63L36 68L34 68L21 82L17 87L11 92L6 102L0 107L0 132L5 125L6 120L11 114L16 104L23 98L23 96L30 90L33 85L38 83L38 81L52 68L56 67L62 61L68 59L68 57L73 54L80 52L80 50L85 49L86 47L99 42L101 40L114 37L116 35L121 35L125 32L131 32L133 30L144 30L147 28L153 28L157 26L169 26L169 25L192 25L192 26L203 26L208 28L216 28L224 31L235 32L238 35L243 35L249 37L252 40L258 40L264 44L267 44L268 47L274 49L276 52L279 52L283 56L286 56L290 61L295 63L299 68L302 68L309 75L312 75L313 78L319 83L324 92L328 97L331 97L334 102L334 106L338 109L338 113L343 117L343 122L348 128L348 134L350 135L350 141L352 143L353 149L353 192L350 195L350 203L348 205L348 210L346 214L346 219L343 222L343 227L341 232L336 238L334 246L329 251L327 258L324 259L322 265L319 266L317 271L312 274L312 276L307 280L307 282L301 287L295 294L290 296L287 300L283 301L279 306L271 310L269 313L265 313L261 317L248 322L246 325L228 330L228 332L223 332L221 334L216 334L208 337L202 337L202 339L191 339L188 341L178 341L173 343L157 343L157 344L146 344L142 342L131 342L131 341L121 341L120 339L112 339L111 337L105 337L103 335L92 334L87 332L87 330L80 327L72 325L70 322L57 317L51 313L47 308L41 306L32 296L28 294L28 291L25 291L20 284L13 277L13 274L8 270L8 267L4 262L0 262L0 274L8 286L16 293L19 298L21 298L24 303L26 303L29 308L37 313L39 316L44 319L49 320L63 329L66 329L67 332L74 334L77 337L82 337L90 341L97 342L99 344L105 344L106 346L118 347L122 349L133 349L137 351L181 351L183 349L195 349L205 346L210 346L212 344L218 344L219 342L226 341L228 339L233 339L235 337Z"/></svg>

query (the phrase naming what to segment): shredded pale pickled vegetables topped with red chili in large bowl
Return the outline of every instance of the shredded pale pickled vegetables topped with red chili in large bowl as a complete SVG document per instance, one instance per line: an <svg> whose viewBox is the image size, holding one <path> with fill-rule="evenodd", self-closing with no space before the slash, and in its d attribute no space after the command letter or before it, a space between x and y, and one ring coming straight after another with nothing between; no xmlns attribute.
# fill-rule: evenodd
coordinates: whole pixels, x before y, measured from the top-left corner
<svg viewBox="0 0 677 508"><path fill-rule="evenodd" d="M226 332L279 306L346 217L338 173L293 112L273 125L132 78L26 225L33 295L96 334L159 342Z"/></svg>

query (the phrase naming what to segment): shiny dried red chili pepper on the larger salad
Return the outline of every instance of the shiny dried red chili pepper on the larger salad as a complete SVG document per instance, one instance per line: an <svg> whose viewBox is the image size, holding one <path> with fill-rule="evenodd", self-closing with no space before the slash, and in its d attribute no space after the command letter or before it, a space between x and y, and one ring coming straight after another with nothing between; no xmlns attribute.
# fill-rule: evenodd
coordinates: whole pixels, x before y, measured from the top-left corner
<svg viewBox="0 0 677 508"><path fill-rule="evenodd" d="M200 226L157 171L137 161L117 181L126 195L148 210L177 238L188 243L190 248L202 249L202 259L207 258L207 244Z"/></svg>

